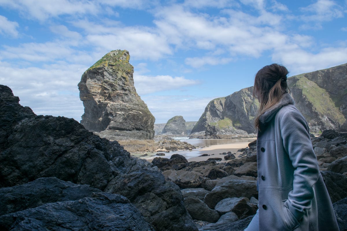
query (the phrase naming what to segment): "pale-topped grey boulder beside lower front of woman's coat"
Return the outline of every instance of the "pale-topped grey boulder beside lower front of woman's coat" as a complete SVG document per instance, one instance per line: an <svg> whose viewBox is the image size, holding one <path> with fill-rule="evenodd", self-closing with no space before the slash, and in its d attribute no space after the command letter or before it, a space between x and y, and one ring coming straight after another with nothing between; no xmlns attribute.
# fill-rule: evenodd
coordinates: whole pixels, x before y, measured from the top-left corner
<svg viewBox="0 0 347 231"><path fill-rule="evenodd" d="M240 219L254 215L257 206L250 203L247 197L232 197L222 199L214 208L219 214L234 212Z"/></svg>

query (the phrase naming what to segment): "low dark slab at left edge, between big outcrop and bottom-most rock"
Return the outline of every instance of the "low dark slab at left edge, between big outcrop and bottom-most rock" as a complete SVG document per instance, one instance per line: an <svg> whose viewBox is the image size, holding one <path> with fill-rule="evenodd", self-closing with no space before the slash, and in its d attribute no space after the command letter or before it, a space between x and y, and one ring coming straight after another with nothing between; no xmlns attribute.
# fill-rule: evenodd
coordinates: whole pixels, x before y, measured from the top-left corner
<svg viewBox="0 0 347 231"><path fill-rule="evenodd" d="M88 185L76 185L56 177L43 177L27 184L0 188L0 215L58 201L76 201L102 192Z"/></svg>

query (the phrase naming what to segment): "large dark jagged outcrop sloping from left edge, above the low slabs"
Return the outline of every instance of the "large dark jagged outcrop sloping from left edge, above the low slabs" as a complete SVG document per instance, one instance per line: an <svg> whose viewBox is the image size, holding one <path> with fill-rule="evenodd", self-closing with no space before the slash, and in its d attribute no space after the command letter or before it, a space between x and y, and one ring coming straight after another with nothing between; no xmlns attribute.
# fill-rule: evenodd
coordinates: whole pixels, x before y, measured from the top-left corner
<svg viewBox="0 0 347 231"><path fill-rule="evenodd" d="M74 119L36 116L20 106L18 100L9 88L0 86L0 124L6 128L6 139L0 143L0 187L25 184L41 177L57 177L100 190L121 183L125 185L120 192L127 187L141 189L138 194L124 195L131 198L141 213L154 206L141 203L148 194L158 195L155 198L163 202L160 211L145 216L156 230L196 230L179 188L165 183L157 167L130 157L117 141L101 139ZM115 180L127 175L133 177L132 181Z"/></svg>

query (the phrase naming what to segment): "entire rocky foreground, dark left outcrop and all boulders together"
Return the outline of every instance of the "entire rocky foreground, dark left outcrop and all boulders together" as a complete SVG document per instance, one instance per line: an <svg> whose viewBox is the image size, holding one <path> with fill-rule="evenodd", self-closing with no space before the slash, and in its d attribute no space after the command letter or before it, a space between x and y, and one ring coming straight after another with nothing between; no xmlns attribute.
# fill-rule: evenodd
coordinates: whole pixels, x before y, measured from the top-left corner
<svg viewBox="0 0 347 231"><path fill-rule="evenodd" d="M243 230L257 209L255 142L241 158L151 163L74 119L37 116L0 85L0 230ZM312 137L347 230L347 135ZM198 228L197 228L198 227Z"/></svg>

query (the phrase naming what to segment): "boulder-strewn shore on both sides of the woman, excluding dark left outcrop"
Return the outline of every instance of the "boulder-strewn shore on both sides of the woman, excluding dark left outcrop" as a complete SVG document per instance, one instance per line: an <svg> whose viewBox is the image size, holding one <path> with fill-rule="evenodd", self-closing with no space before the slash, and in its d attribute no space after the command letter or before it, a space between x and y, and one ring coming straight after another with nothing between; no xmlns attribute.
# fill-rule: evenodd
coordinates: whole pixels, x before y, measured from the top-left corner
<svg viewBox="0 0 347 231"><path fill-rule="evenodd" d="M327 130L312 136L312 144L340 230L347 230L347 133ZM243 230L257 210L256 141L238 151L243 152L240 158L223 153L226 163L218 163L221 158L188 162L178 154L152 161L167 181L180 187L201 231Z"/></svg>

